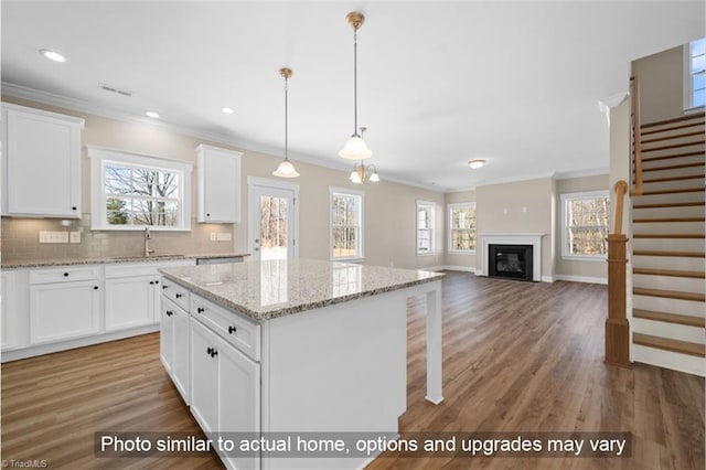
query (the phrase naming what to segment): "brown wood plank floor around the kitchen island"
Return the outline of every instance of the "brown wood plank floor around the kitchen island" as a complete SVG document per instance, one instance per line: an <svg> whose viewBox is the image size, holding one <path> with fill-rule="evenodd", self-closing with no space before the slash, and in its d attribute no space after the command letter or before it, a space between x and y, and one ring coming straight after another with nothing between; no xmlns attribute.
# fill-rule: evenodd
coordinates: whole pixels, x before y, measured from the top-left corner
<svg viewBox="0 0 706 470"><path fill-rule="evenodd" d="M443 281L443 395L425 395L424 299L409 301L408 409L419 431L629 431L630 458L382 457L370 469L704 469L704 380L602 363L606 287L449 273ZM2 459L49 468L221 468L186 459L94 457L94 432L197 434L159 361L159 337L2 365ZM459 452L461 453L461 452Z"/></svg>

